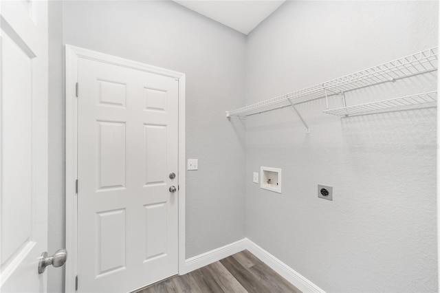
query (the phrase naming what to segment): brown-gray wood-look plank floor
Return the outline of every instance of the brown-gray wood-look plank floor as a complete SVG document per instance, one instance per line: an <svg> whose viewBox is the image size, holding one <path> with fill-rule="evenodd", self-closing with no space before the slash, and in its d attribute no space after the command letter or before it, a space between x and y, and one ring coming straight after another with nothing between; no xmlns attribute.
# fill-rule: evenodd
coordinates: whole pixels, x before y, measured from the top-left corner
<svg viewBox="0 0 440 293"><path fill-rule="evenodd" d="M135 293L298 293L300 290L257 259L248 250L173 276Z"/></svg>

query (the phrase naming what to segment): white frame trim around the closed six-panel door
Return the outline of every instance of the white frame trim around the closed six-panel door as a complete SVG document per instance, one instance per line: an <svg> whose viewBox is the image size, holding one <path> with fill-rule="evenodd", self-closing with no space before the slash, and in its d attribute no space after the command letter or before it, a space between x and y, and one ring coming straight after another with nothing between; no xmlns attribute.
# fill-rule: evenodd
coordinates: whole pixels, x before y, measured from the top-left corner
<svg viewBox="0 0 440 293"><path fill-rule="evenodd" d="M185 267L185 74L168 69L146 65L120 57L95 52L72 45L65 46L65 90L66 90L66 249L69 261L65 268L65 292L75 292L77 274L77 197L76 179L78 162L78 100L76 83L78 81L78 59L93 61L137 69L179 80L179 274Z"/></svg>

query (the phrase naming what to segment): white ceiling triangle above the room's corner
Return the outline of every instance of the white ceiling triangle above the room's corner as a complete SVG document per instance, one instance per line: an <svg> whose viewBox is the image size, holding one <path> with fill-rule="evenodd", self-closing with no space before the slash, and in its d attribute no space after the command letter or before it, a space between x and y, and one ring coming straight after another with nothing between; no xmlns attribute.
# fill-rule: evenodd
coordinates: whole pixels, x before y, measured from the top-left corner
<svg viewBox="0 0 440 293"><path fill-rule="evenodd" d="M181 6L249 34L285 0L173 0Z"/></svg>

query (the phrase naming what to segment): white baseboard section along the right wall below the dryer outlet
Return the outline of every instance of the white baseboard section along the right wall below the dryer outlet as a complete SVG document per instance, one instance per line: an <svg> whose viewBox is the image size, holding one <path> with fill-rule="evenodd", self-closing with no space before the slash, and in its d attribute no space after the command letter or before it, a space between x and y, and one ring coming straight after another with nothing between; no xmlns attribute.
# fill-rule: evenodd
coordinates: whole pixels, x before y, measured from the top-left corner
<svg viewBox="0 0 440 293"><path fill-rule="evenodd" d="M325 293L324 290L312 283L309 279L305 278L305 276L296 272L293 268L290 268L289 265L286 265L283 261L280 261L272 254L250 241L250 239L245 238L245 240L246 247L252 254L265 264L269 265L272 270L283 276L284 279L292 283L299 290L303 292Z"/></svg>

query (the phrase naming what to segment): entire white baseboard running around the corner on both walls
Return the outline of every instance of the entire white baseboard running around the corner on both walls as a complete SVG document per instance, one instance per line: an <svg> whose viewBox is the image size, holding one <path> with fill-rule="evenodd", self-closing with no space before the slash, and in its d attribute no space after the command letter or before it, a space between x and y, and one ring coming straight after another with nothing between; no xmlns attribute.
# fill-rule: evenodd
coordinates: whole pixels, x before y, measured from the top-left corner
<svg viewBox="0 0 440 293"><path fill-rule="evenodd" d="M280 261L272 254L256 245L248 238L243 238L234 243L222 246L202 254L199 254L185 261L184 272L179 272L179 274L186 274L197 270L205 265L224 259L225 257L230 257L232 254L241 252L243 250L249 250L252 254L258 257L265 264L269 265L272 270L283 276L287 281L292 283L295 287L303 292L315 292L315 293L325 293L320 287L309 281L305 276L296 272L296 270L290 268L288 265Z"/></svg>

